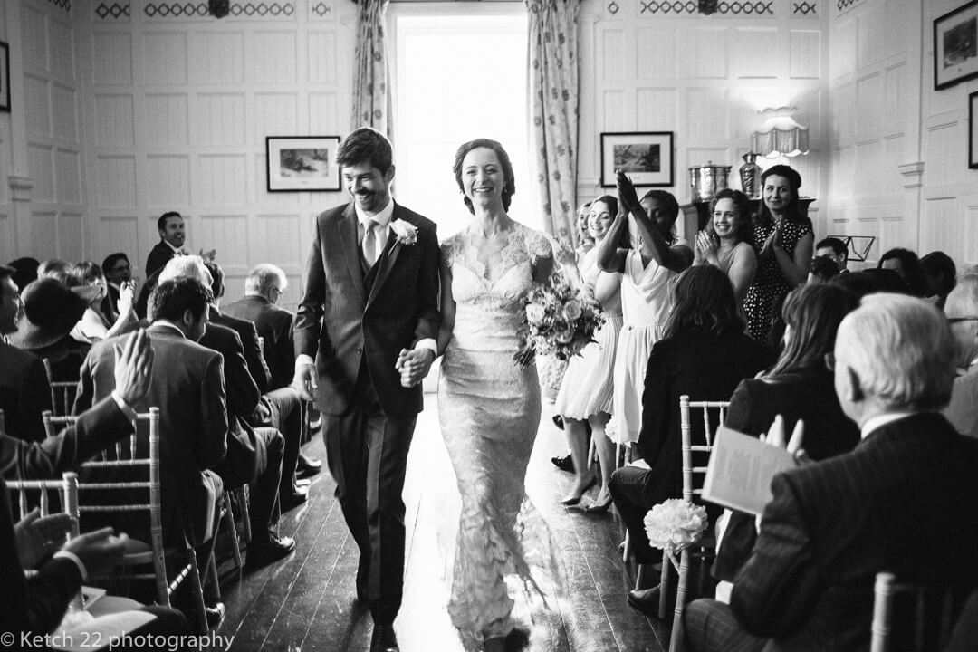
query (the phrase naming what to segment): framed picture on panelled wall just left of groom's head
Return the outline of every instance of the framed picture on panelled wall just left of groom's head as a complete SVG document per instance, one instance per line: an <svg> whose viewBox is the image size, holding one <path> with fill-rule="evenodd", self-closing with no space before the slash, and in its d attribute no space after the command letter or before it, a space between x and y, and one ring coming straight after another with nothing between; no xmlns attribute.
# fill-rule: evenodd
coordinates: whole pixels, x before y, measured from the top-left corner
<svg viewBox="0 0 978 652"><path fill-rule="evenodd" d="M338 191L339 136L266 136L269 193Z"/></svg>

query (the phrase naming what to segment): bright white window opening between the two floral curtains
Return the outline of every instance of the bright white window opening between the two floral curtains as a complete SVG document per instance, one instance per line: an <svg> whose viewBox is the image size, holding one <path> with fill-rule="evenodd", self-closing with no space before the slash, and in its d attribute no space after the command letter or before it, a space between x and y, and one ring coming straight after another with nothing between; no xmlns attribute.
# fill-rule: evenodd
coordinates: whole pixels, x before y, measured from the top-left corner
<svg viewBox="0 0 978 652"><path fill-rule="evenodd" d="M464 229L469 213L452 173L455 152L492 138L516 174L510 215L543 228L530 183L527 130L527 17L520 2L391 3L394 194L438 224L438 237Z"/></svg>

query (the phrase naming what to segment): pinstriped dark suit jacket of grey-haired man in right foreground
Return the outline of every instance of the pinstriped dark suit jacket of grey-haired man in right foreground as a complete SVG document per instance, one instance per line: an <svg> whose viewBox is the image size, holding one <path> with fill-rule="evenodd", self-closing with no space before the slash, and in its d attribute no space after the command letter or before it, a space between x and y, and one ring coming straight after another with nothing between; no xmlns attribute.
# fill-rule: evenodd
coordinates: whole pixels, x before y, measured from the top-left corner
<svg viewBox="0 0 978 652"><path fill-rule="evenodd" d="M978 440L937 413L887 423L852 453L778 474L736 576L740 626L767 651L869 648L876 572L978 581Z"/></svg>

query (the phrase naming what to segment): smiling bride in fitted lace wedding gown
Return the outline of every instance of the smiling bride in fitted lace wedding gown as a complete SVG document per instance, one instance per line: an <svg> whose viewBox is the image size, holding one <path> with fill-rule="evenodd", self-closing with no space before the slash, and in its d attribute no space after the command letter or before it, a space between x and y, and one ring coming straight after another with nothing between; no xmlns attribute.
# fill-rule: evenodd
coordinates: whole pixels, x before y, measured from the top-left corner
<svg viewBox="0 0 978 652"><path fill-rule="evenodd" d="M515 185L502 145L464 144L454 170L472 220L441 245L438 418L462 495L448 611L490 652L506 649L513 630L506 575L530 580L517 515L540 385L535 366L520 368L512 355L523 343L523 298L549 280L554 253L547 236L507 214Z"/></svg>

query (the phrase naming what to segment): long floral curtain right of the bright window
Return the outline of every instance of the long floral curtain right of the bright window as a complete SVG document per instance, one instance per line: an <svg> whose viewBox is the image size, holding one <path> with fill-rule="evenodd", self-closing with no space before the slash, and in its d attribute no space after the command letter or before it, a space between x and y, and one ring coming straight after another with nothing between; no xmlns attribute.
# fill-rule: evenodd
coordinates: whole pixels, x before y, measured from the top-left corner
<svg viewBox="0 0 978 652"><path fill-rule="evenodd" d="M574 246L577 203L577 25L580 0L525 0L529 12L534 172L545 224Z"/></svg>

